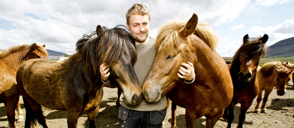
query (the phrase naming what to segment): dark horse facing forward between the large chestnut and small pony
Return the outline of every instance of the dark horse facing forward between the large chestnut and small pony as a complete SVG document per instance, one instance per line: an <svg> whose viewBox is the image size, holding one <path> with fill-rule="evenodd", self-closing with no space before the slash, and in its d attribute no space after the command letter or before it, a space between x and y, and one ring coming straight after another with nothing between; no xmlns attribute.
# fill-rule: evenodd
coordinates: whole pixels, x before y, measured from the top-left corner
<svg viewBox="0 0 294 128"><path fill-rule="evenodd" d="M243 44L233 56L230 65L230 74L234 85L234 95L230 105L225 109L223 118L228 118L228 126L234 120L234 108L237 103L241 104L239 123L237 127L243 127L245 113L251 106L254 98L259 92L257 68L260 57L265 56L265 42L268 35L263 37L249 38L248 34L243 37Z"/></svg>

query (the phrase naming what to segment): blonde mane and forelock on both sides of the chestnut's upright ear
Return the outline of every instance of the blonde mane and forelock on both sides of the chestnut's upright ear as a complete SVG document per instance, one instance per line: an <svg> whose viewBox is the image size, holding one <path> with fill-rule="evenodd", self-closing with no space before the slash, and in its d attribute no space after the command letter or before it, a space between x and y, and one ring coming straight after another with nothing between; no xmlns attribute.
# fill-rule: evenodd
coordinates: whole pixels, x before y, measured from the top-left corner
<svg viewBox="0 0 294 128"><path fill-rule="evenodd" d="M180 47L182 42L178 33L181 32L185 26L186 22L181 21L171 21L170 23L163 25L159 29L158 36L156 37L156 49L158 50L161 47L174 50L175 47L177 47L181 51L184 51L184 48ZM216 50L219 39L208 23L198 23L194 35L198 35L206 45L211 48L211 50Z"/></svg>

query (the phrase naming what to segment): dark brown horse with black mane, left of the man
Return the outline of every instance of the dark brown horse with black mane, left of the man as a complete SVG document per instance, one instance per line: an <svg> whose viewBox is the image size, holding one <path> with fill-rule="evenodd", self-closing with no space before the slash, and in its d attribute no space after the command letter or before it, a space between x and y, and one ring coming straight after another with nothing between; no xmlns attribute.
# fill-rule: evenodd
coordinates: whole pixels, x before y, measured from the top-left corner
<svg viewBox="0 0 294 128"><path fill-rule="evenodd" d="M68 127L77 127L78 118L88 112L89 127L96 127L103 97L99 73L102 63L109 65L109 80L122 90L126 102L138 104L142 89L133 70L134 45L131 34L125 29L98 25L96 32L84 34L78 40L77 52L65 61L31 59L21 64L16 81L26 108L25 127L34 126L36 120L47 127L41 105L66 111Z"/></svg>

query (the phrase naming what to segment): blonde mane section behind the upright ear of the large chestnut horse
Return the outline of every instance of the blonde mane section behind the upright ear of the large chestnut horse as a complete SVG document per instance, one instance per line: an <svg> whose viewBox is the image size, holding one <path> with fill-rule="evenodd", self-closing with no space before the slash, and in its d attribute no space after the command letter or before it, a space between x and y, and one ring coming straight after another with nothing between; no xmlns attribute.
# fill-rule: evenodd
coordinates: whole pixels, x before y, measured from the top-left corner
<svg viewBox="0 0 294 128"><path fill-rule="evenodd" d="M206 43L206 45L211 48L211 50L216 51L219 39L208 23L198 23L194 34L198 35Z"/></svg>

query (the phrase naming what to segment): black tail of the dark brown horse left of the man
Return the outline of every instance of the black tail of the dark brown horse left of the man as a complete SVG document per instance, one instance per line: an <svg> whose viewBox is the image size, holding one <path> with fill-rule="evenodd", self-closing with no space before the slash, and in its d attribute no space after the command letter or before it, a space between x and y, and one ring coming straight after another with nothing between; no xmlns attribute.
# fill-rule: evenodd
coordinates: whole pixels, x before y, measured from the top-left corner
<svg viewBox="0 0 294 128"><path fill-rule="evenodd" d="M32 109L31 105L23 98L24 100L24 107L26 109L26 121L24 127L32 127L34 128L37 124L37 118L34 110Z"/></svg>

